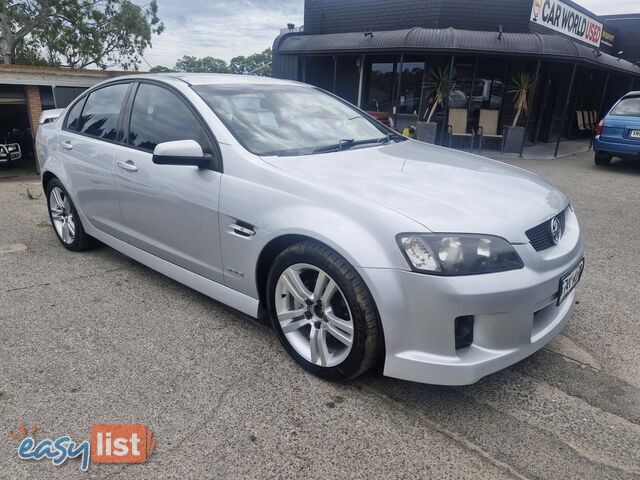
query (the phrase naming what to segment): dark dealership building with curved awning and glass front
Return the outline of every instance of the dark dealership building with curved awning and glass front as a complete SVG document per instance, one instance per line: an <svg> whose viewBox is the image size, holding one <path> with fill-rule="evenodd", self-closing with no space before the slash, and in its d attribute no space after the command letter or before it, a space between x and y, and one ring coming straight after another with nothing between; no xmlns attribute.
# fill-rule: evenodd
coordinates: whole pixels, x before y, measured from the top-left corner
<svg viewBox="0 0 640 480"><path fill-rule="evenodd" d="M454 112L466 132L482 117L504 133L522 73L523 145L586 139L594 118L640 90L640 13L597 16L570 0L306 0L304 26L273 46L274 76L388 112L398 127L429 117L443 72L437 142Z"/></svg>

